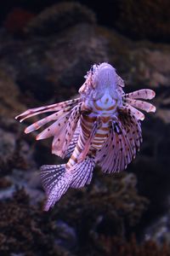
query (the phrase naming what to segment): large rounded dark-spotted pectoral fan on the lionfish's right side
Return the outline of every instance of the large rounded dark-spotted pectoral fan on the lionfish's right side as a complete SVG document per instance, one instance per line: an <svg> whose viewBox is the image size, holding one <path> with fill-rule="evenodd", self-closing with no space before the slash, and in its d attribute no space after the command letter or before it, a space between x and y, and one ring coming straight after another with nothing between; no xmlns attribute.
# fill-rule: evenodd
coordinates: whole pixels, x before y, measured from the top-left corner
<svg viewBox="0 0 170 256"><path fill-rule="evenodd" d="M109 137L95 160L103 172L121 172L133 160L141 142L139 120L125 109L112 121Z"/></svg>

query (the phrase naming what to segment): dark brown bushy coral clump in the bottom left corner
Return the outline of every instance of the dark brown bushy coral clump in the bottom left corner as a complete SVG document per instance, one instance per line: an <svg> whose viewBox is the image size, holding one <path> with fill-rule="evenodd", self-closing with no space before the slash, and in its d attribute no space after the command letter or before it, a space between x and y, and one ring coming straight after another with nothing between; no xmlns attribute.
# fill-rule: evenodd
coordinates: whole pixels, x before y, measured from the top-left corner
<svg viewBox="0 0 170 256"><path fill-rule="evenodd" d="M71 255L55 245L53 221L43 214L41 207L32 207L24 189L18 189L13 198L0 201L0 254L29 256Z"/></svg>

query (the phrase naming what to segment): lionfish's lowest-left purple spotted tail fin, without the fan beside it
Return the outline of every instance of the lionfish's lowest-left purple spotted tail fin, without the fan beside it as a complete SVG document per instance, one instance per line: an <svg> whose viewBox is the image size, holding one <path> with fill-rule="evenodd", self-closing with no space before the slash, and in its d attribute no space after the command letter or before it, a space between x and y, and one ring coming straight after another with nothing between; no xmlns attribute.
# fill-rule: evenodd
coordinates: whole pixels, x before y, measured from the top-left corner
<svg viewBox="0 0 170 256"><path fill-rule="evenodd" d="M42 166L41 167L42 186L48 195L48 200L44 206L44 211L54 207L61 195L65 194L71 183L71 175L65 171L65 165Z"/></svg>

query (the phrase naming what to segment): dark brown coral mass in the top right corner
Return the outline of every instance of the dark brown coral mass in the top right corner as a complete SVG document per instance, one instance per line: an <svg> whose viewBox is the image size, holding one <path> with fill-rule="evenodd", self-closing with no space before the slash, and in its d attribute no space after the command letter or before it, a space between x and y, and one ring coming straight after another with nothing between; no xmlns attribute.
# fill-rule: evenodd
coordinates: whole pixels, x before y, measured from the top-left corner
<svg viewBox="0 0 170 256"><path fill-rule="evenodd" d="M168 0L121 0L116 26L128 37L170 41L170 3Z"/></svg>

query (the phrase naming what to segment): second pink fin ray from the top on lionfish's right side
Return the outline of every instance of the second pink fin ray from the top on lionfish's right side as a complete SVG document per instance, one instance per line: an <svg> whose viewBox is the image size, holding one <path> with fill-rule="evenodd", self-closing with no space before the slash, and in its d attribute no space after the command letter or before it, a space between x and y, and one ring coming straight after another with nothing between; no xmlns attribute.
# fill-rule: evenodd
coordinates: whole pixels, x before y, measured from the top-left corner
<svg viewBox="0 0 170 256"><path fill-rule="evenodd" d="M149 102L143 102L139 100L134 100L131 98L127 98L126 102L130 105L132 105L135 108L140 108L146 112L156 112L156 107Z"/></svg>

